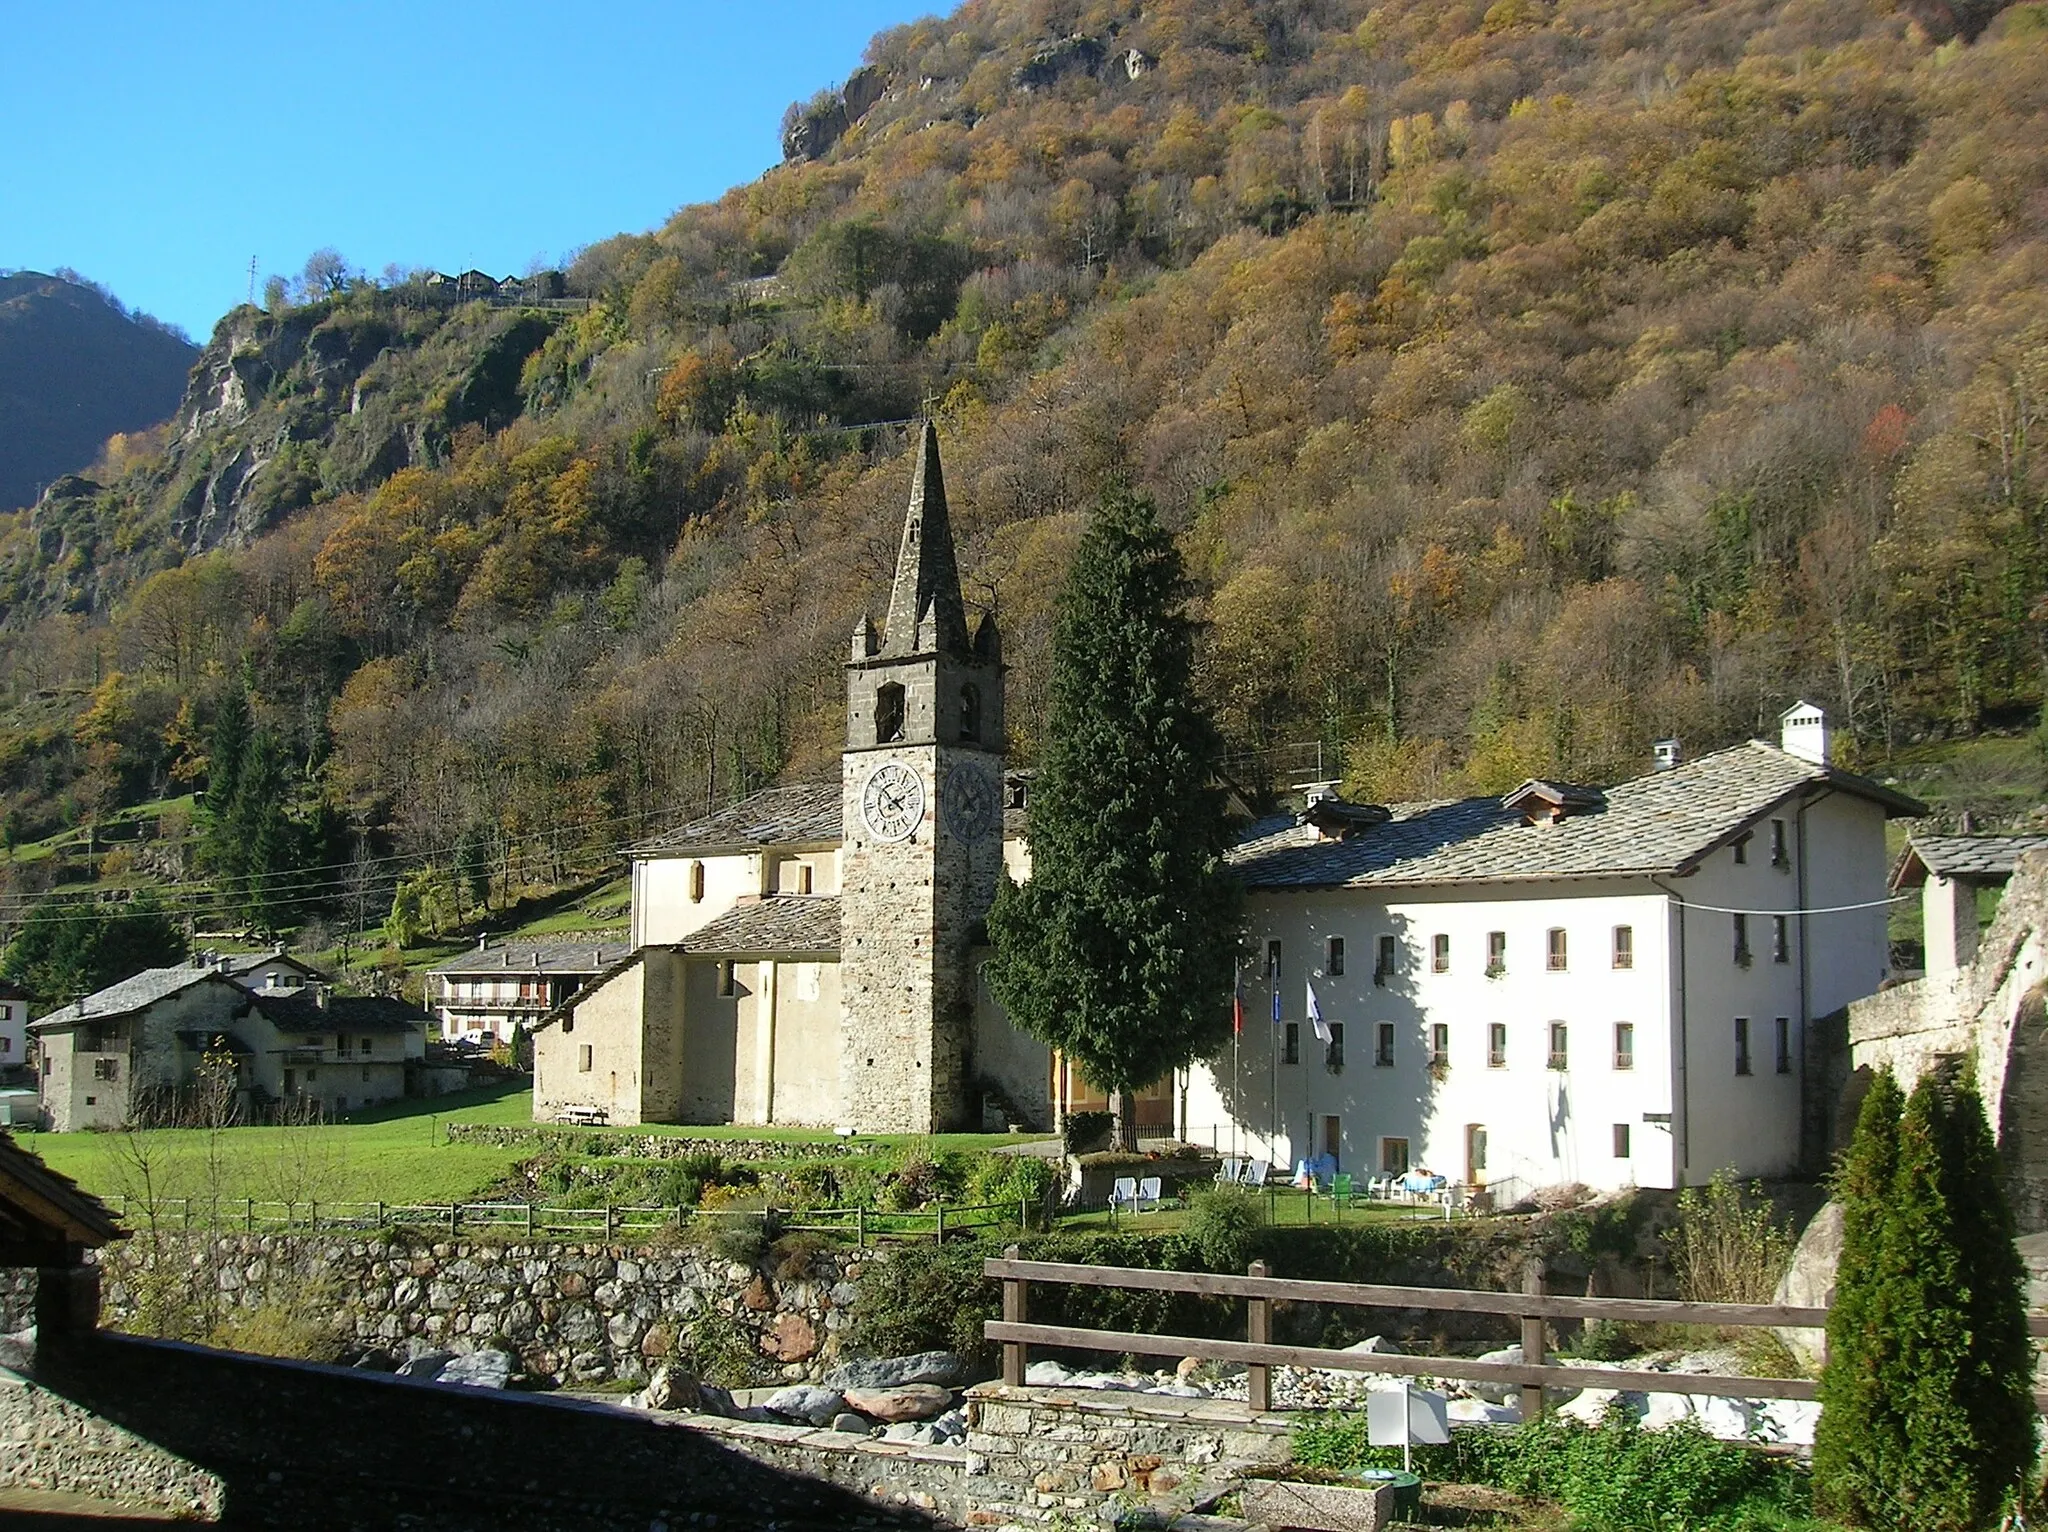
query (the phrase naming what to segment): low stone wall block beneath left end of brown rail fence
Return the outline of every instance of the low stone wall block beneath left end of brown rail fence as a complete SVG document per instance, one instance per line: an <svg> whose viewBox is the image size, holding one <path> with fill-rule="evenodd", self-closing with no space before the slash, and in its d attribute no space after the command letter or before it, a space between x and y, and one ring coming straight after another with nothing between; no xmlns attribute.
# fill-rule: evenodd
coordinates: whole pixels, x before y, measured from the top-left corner
<svg viewBox="0 0 2048 1532"><path fill-rule="evenodd" d="M1163 1526L1288 1462L1290 1432L1290 1415L1221 1399L983 1382L967 1391L967 1524L1094 1522L1116 1501Z"/></svg>

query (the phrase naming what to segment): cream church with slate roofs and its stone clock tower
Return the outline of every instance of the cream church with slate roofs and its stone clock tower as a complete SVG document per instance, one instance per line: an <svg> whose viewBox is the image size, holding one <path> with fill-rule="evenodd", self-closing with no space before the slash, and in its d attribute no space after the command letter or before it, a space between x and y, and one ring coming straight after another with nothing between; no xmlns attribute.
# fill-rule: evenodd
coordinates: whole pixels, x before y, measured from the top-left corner
<svg viewBox="0 0 2048 1532"><path fill-rule="evenodd" d="M883 627L852 635L840 780L633 850L629 954L537 1026L535 1116L938 1133L993 1098L1049 1122L1051 1055L977 979L995 883L1028 870L1022 791L926 424Z"/></svg>

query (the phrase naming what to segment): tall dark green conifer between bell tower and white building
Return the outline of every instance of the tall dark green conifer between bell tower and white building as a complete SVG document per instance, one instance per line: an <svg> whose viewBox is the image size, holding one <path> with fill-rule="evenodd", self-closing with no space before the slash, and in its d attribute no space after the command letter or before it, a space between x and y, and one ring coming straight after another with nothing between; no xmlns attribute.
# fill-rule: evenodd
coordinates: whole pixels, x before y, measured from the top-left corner
<svg viewBox="0 0 2048 1532"><path fill-rule="evenodd" d="M1151 502L1106 494L1059 602L1030 881L989 911L989 989L1110 1092L1126 1149L1133 1092L1231 1032L1241 893L1188 594Z"/></svg>

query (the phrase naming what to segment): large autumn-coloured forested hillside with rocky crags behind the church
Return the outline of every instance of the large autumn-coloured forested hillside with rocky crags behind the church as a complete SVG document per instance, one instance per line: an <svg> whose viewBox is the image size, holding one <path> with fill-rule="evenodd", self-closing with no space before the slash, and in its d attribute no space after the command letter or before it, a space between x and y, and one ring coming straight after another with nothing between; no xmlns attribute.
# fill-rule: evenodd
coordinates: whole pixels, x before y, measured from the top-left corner
<svg viewBox="0 0 2048 1532"><path fill-rule="evenodd" d="M328 264L227 315L164 442L0 524L10 838L207 786L152 866L279 924L340 883L281 868L500 897L815 770L926 410L1026 754L1116 477L1253 780L2036 715L2044 4L971 0L786 143L586 303Z"/></svg>

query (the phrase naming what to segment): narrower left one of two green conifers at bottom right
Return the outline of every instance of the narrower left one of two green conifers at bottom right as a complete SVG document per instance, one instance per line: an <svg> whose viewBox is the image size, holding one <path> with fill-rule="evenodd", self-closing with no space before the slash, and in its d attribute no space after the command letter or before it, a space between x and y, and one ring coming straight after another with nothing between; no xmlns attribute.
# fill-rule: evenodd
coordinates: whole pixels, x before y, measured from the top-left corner
<svg viewBox="0 0 2048 1532"><path fill-rule="evenodd" d="M1888 1317L1892 1292L1884 1280L1903 1106L1892 1071L1880 1069L1855 1116L1849 1153L1835 1174L1841 1262L1827 1311L1812 1489L1823 1509L1862 1526L1872 1524L1884 1485L1896 1481L1905 1460L1905 1419L1888 1391L1896 1325Z"/></svg>

